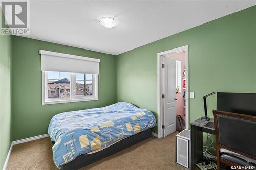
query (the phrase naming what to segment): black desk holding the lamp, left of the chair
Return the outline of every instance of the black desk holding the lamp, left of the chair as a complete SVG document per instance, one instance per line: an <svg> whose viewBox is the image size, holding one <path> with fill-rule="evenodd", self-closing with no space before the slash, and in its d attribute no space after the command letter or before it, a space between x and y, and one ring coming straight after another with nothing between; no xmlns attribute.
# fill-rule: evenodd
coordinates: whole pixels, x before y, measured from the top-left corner
<svg viewBox="0 0 256 170"><path fill-rule="evenodd" d="M205 126L209 121L200 118L191 123L191 169L195 169L196 164L203 160L203 132L215 134L215 129ZM214 122L214 119L210 119Z"/></svg>

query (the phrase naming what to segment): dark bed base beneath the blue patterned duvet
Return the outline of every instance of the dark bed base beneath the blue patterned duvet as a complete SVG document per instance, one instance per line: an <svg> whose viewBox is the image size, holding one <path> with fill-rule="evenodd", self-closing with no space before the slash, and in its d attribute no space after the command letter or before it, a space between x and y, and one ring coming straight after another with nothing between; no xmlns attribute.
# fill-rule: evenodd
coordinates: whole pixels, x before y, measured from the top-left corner
<svg viewBox="0 0 256 170"><path fill-rule="evenodd" d="M103 159L105 157L108 157L114 153L117 153L121 150L124 150L125 148L131 147L132 145L139 143L145 139L148 139L152 136L152 128L147 129L143 132L137 133L136 135L127 137L125 139L122 139L121 141L111 145L108 148L105 148L99 152L93 153L93 154L84 154L79 155L77 158L75 158L73 161L62 165L61 170L73 170L73 169L79 169L84 166L87 166L91 163L94 163L100 159ZM53 142L54 144L54 142Z"/></svg>

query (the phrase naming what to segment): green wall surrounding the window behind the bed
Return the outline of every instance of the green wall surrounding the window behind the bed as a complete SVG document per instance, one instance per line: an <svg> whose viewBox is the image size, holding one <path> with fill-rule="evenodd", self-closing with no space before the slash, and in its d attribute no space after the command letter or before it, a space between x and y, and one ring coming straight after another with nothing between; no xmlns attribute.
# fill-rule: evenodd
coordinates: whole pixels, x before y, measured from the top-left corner
<svg viewBox="0 0 256 170"><path fill-rule="evenodd" d="M18 36L13 36L12 42L13 141L48 133L50 119L55 114L102 107L116 102L115 56ZM100 59L99 100L42 105L39 50Z"/></svg>

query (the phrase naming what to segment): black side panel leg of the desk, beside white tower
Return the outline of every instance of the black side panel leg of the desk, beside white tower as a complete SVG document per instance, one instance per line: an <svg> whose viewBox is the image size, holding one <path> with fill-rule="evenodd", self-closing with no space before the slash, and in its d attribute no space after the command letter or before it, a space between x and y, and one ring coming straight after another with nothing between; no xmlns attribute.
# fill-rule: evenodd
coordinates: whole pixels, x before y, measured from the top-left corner
<svg viewBox="0 0 256 170"><path fill-rule="evenodd" d="M203 132L202 128L191 125L191 163L190 168L195 169L196 164L203 158Z"/></svg>

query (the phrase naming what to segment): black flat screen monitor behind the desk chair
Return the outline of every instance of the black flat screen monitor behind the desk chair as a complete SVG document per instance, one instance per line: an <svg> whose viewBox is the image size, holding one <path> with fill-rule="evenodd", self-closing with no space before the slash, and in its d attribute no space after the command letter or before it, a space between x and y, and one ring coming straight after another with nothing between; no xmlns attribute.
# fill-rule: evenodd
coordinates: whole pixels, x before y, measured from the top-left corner
<svg viewBox="0 0 256 170"><path fill-rule="evenodd" d="M256 93L217 92L217 110L256 116Z"/></svg>

